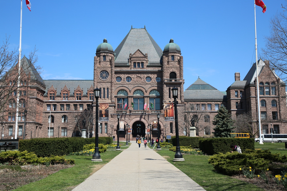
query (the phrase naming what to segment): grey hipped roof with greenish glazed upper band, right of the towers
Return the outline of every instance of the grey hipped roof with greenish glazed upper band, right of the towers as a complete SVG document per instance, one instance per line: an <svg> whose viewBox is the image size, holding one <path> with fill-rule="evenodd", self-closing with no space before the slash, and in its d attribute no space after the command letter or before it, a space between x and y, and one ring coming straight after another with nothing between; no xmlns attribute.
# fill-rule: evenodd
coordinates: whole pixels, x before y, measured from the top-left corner
<svg viewBox="0 0 287 191"><path fill-rule="evenodd" d="M225 100L226 92L221 92L198 78L184 91L185 100Z"/></svg>

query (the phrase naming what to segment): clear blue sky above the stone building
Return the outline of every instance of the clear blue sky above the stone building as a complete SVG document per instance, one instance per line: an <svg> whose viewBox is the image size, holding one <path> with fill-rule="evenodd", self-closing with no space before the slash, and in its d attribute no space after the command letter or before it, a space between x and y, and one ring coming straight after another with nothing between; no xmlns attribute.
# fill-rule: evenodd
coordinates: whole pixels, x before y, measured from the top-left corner
<svg viewBox="0 0 287 191"><path fill-rule="evenodd" d="M97 46L107 38L114 50L133 28L143 28L162 48L174 39L184 59L184 88L198 76L220 91L245 77L255 62L254 1L23 1L22 55L34 46L47 79L93 79ZM256 6L258 51L265 46L269 21L284 0ZM0 39L19 46L20 0L1 0Z"/></svg>

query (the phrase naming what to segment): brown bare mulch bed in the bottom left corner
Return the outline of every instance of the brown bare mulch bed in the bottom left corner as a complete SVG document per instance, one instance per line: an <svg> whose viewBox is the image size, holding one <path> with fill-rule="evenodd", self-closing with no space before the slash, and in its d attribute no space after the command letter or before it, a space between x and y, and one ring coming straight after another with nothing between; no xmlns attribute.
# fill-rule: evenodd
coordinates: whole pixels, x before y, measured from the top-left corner
<svg viewBox="0 0 287 191"><path fill-rule="evenodd" d="M0 173L0 191L16 189L20 186L41 180L59 170L72 167L73 165L37 165L29 166L21 171L11 171Z"/></svg>

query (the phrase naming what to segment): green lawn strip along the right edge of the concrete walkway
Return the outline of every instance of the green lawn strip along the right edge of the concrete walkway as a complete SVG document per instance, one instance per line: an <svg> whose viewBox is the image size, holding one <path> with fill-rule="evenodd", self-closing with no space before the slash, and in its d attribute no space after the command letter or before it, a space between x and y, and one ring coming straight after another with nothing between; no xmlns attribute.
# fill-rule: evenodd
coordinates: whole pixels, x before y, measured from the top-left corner
<svg viewBox="0 0 287 191"><path fill-rule="evenodd" d="M210 156L183 155L185 161L173 162L175 152L165 149L156 152L207 191L263 191L255 185L216 172L208 163Z"/></svg>

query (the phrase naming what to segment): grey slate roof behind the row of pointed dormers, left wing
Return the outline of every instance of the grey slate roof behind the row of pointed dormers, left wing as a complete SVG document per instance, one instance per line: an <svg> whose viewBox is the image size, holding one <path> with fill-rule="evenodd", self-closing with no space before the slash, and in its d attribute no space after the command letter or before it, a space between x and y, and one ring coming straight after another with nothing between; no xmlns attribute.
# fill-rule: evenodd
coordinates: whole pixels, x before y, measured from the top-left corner
<svg viewBox="0 0 287 191"><path fill-rule="evenodd" d="M52 85L55 89L57 88L57 96L60 95L61 88L63 89L65 85L67 88L70 88L70 96L74 95L74 89L78 86L83 89L83 96L86 96L88 89L94 84L93 80L44 80L44 82L46 84L46 93L44 96L47 96L48 90Z"/></svg>

